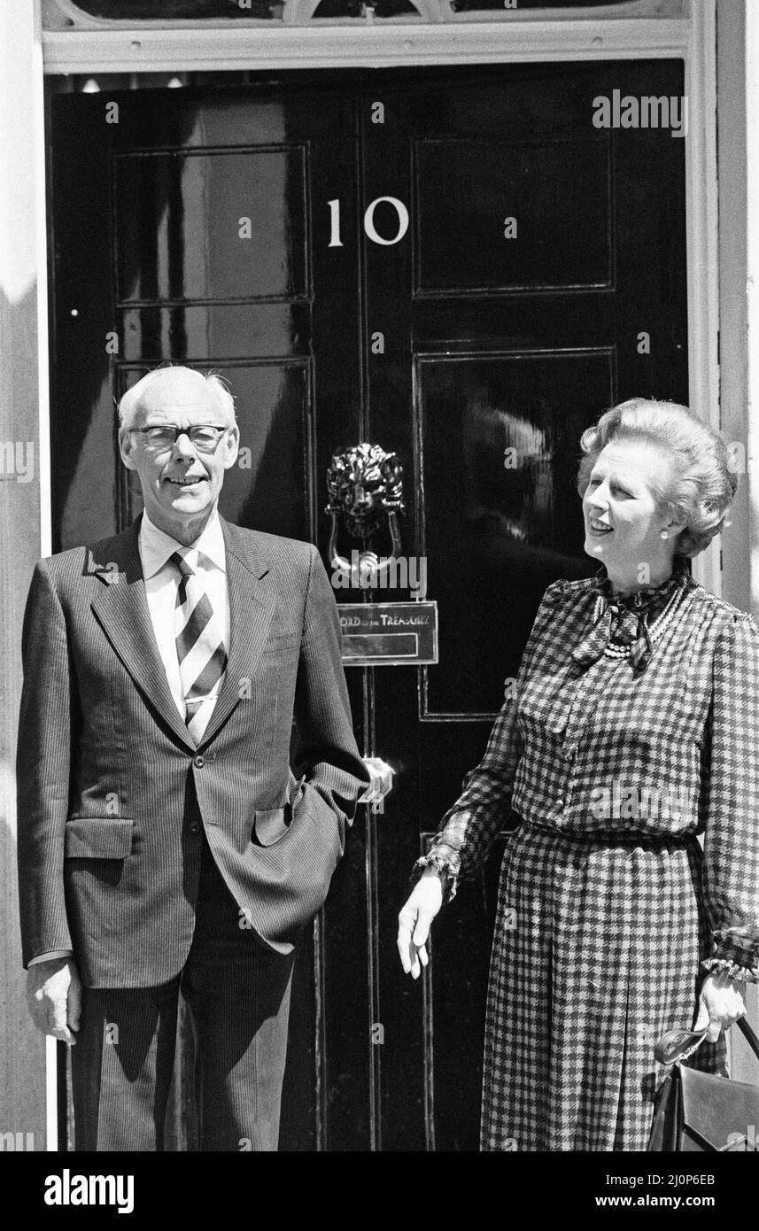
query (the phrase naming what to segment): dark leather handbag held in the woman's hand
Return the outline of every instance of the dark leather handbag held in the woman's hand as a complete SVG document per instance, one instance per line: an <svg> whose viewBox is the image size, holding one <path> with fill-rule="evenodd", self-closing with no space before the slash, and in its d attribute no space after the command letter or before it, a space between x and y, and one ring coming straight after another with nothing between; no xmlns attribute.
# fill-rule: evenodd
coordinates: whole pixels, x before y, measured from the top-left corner
<svg viewBox="0 0 759 1231"><path fill-rule="evenodd" d="M736 1023L759 1060L759 1038L745 1018ZM701 1045L700 1032L669 1030L654 1048L673 1070L659 1086L648 1150L686 1153L759 1151L759 1086L682 1065Z"/></svg>

